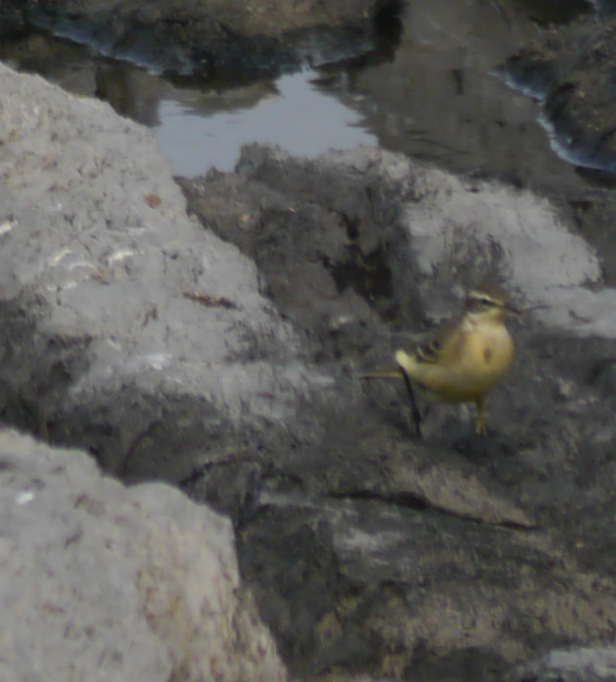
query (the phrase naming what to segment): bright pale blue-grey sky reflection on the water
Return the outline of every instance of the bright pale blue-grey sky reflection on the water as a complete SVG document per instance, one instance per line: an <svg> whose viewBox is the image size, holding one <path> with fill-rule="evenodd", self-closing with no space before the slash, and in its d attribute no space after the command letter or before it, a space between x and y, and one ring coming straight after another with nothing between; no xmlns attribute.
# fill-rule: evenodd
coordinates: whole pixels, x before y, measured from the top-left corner
<svg viewBox="0 0 616 682"><path fill-rule="evenodd" d="M232 170L245 143L279 145L309 157L377 144L360 125L360 114L319 89L317 78L311 70L281 76L268 92L261 88L256 102L209 114L199 110L202 93L176 89L159 102L160 123L153 132L174 173L186 177L211 166Z"/></svg>

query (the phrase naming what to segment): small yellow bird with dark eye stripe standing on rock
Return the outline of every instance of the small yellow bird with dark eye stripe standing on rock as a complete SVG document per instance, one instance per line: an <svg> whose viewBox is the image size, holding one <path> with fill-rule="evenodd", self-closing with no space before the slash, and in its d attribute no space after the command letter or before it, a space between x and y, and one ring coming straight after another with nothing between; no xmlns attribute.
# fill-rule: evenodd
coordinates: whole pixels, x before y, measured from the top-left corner
<svg viewBox="0 0 616 682"><path fill-rule="evenodd" d="M487 394L510 370L514 344L504 325L508 314L519 314L506 293L482 282L469 291L463 314L446 323L427 343L412 353L398 350L396 362L411 397L418 434L421 415L412 388L430 400L474 402L475 432L484 434Z"/></svg>

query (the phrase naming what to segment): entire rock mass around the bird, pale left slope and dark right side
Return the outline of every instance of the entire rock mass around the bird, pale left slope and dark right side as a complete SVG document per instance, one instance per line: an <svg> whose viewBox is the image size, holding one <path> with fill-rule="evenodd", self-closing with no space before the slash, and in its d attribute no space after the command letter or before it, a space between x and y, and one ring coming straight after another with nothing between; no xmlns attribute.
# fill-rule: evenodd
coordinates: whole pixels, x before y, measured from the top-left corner
<svg viewBox="0 0 616 682"><path fill-rule="evenodd" d="M564 214L378 149L248 147L183 183L200 228L146 132L0 78L5 421L230 514L296 676L492 681L613 640L615 292ZM418 441L358 370L485 274L550 307L512 328L490 436L437 406Z"/></svg>

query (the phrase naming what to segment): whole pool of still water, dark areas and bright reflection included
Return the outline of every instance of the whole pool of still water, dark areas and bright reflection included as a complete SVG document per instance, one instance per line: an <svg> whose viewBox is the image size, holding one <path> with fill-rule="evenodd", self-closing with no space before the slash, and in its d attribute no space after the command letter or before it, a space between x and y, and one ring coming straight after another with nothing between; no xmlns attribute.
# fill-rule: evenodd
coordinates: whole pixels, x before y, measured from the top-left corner
<svg viewBox="0 0 616 682"><path fill-rule="evenodd" d="M369 55L226 83L161 76L42 31L4 40L0 59L148 125L177 175L231 170L249 142L307 156L377 144L458 173L553 189L579 182L574 167L551 145L538 102L495 76L548 20L571 18L553 5L414 0Z"/></svg>

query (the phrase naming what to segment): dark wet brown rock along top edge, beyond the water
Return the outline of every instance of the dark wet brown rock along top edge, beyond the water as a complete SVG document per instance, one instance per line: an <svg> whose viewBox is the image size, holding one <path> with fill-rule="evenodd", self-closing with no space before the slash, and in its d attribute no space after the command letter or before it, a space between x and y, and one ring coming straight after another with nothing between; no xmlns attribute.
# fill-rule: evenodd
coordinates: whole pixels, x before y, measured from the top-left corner
<svg viewBox="0 0 616 682"><path fill-rule="evenodd" d="M211 77L238 68L278 72L305 59L324 63L365 53L374 45L375 21L398 6L392 0L311 0L301 7L283 0L29 0L20 16L106 55ZM10 10L5 14L14 16Z"/></svg>

